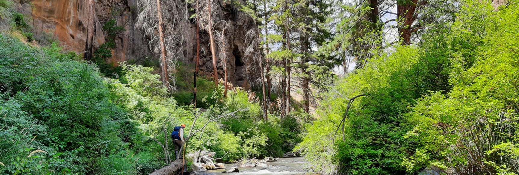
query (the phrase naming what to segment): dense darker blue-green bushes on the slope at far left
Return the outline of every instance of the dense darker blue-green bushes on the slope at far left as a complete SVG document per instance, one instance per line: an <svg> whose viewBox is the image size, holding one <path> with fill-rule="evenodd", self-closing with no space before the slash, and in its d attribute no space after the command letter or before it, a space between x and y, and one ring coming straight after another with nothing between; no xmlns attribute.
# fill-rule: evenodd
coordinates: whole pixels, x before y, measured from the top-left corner
<svg viewBox="0 0 519 175"><path fill-rule="evenodd" d="M3 173L97 172L112 165L102 157L128 149L121 137L134 125L108 100L94 68L57 47L29 47L5 35L0 41Z"/></svg>

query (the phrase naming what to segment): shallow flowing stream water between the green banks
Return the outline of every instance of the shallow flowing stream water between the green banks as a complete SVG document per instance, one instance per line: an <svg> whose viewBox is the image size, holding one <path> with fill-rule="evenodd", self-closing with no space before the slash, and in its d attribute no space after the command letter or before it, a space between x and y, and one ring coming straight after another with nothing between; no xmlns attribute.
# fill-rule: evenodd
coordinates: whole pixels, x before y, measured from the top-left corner
<svg viewBox="0 0 519 175"><path fill-rule="evenodd" d="M307 161L303 157L290 157L280 158L279 161L272 161L264 163L267 167L251 167L251 168L240 168L235 164L225 164L224 169L210 170L202 172L203 175L310 175L310 169L308 168ZM222 173L230 168L237 167L240 172L233 173Z"/></svg>

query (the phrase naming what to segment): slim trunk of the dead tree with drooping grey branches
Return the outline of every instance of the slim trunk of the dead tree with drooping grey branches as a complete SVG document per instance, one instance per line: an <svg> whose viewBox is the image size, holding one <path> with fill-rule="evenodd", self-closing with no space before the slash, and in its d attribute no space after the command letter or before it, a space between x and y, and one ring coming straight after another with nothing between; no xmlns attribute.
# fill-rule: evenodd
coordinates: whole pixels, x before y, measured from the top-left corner
<svg viewBox="0 0 519 175"><path fill-rule="evenodd" d="M160 38L160 63L162 64L162 84L168 89L171 89L169 85L169 74L168 74L168 60L167 58L167 52L166 52L166 44L164 41L164 32L162 30L162 9L160 6L160 0L157 0L157 16L159 18L159 38Z"/></svg>

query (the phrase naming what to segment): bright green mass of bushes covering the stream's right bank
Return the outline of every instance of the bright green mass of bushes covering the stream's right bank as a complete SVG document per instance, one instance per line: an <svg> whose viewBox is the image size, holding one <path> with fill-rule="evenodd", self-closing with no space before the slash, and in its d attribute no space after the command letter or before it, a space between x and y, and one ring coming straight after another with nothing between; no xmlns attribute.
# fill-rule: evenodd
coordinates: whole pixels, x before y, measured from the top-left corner
<svg viewBox="0 0 519 175"><path fill-rule="evenodd" d="M324 173L518 173L519 19L510 14L519 8L461 6L456 22L428 29L419 47L382 53L338 79L296 150ZM359 94L366 96L353 102L343 139L337 125Z"/></svg>

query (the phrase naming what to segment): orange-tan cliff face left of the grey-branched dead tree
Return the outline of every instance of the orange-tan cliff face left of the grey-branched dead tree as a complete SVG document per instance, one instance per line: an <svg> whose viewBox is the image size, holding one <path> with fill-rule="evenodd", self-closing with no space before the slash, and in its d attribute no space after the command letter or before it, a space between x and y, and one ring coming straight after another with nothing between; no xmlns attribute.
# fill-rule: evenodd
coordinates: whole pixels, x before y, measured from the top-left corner
<svg viewBox="0 0 519 175"><path fill-rule="evenodd" d="M130 9L132 3L135 2L98 0L94 6L94 48L105 42L101 23L116 19L117 25L125 25L126 31L115 38L116 48L112 50L113 57L110 59L114 63L139 59L146 54L142 34L133 29L132 17L136 17L136 14ZM33 25L37 31L53 33L66 50L80 53L85 50L88 19L86 0L33 0L32 4Z"/></svg>

